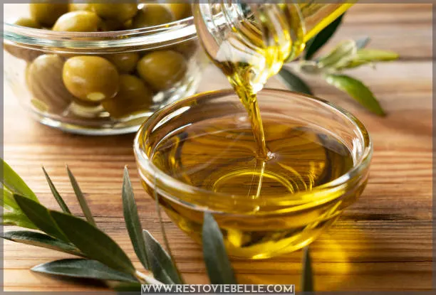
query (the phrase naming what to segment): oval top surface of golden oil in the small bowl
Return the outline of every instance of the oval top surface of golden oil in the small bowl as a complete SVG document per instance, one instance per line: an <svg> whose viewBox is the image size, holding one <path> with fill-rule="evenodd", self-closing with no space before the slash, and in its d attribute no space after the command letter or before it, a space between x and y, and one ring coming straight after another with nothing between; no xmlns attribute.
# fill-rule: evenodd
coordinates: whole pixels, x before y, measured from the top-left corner
<svg viewBox="0 0 436 295"><path fill-rule="evenodd" d="M152 162L190 186L250 199L310 191L353 166L350 151L330 134L283 118L263 119L266 161L256 154L249 120L229 116L170 134Z"/></svg>

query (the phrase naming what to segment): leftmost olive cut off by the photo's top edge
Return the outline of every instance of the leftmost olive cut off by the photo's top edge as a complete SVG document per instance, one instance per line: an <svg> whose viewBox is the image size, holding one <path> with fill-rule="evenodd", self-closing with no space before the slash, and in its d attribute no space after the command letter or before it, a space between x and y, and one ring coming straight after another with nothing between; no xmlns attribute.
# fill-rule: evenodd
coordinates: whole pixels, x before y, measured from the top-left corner
<svg viewBox="0 0 436 295"><path fill-rule="evenodd" d="M41 23L43 26L53 26L56 20L61 17L61 15L68 12L68 4L54 4L47 1L48 3L31 3L30 12L31 17Z"/></svg>

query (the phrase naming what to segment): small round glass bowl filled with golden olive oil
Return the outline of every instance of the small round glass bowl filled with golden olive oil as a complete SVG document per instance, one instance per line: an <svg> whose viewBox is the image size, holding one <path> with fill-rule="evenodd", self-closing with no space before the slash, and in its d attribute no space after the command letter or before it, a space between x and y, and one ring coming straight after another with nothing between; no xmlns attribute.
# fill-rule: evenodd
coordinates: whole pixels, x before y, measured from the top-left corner
<svg viewBox="0 0 436 295"><path fill-rule="evenodd" d="M370 141L360 122L312 97L258 94L265 157L232 90L177 102L135 139L143 184L170 218L201 242L211 212L234 257L298 250L330 225L365 186Z"/></svg>

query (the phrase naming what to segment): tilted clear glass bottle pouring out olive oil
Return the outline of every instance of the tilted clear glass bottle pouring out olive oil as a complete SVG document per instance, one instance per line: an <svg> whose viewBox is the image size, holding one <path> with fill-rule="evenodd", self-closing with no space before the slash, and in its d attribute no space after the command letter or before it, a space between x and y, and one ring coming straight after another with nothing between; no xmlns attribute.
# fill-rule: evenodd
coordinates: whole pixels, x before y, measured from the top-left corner
<svg viewBox="0 0 436 295"><path fill-rule="evenodd" d="M350 0L325 4L258 2L209 0L193 5L197 34L205 51L235 90L252 94L261 90L286 61L298 57L316 33L354 4Z"/></svg>

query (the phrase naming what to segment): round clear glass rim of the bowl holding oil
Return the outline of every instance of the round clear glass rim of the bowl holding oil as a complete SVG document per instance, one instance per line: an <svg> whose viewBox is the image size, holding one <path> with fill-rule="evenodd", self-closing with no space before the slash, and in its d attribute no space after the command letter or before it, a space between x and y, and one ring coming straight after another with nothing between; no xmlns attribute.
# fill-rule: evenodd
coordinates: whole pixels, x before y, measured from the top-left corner
<svg viewBox="0 0 436 295"><path fill-rule="evenodd" d="M366 168L369 167L370 165L370 161L372 159L372 155L373 155L373 142L370 139L370 135L368 134L368 130L365 128L364 124L362 122L360 122L359 119L357 119L353 114L351 114L350 112L348 112L346 109L343 109L342 107L338 107L335 104L332 104L331 102L328 102L326 100L323 100L319 97L314 97L312 95L306 95L306 94L302 94L299 92L293 92L293 91L289 91L289 90L280 90L280 89L274 89L274 88L264 88L263 90L260 91L261 93L263 92L266 95L274 95L274 93L281 93L281 94L287 94L287 95L294 95L294 96L298 96L298 97L304 97L305 99L308 100L313 100L316 102L321 102L321 104L323 104L323 106L328 107L333 109L336 112L339 112L342 116L346 117L346 119L348 119L349 121L351 121L356 129L358 129L358 131L360 132L360 135L363 138L363 152L362 154L358 157L358 159L355 159L355 163L353 164L353 167L345 174L343 174L342 176L339 176L338 178L334 179L333 181L330 181L328 183L324 183L321 186L315 186L314 188L311 189L311 194L316 193L316 192L321 192L321 190L325 191L325 190L335 190L338 187L342 187L344 185L346 185L347 181L357 177L360 179L360 172L364 171ZM147 154L145 153L144 149L142 149L142 146L140 146L140 139L143 138L145 132L147 131L148 127L150 127L151 124L154 124L155 121L157 119L159 119L159 122L162 121L162 119L164 119L165 117L167 117L170 114L166 114L167 109L172 109L174 107L177 106L177 104L189 104L190 102L194 101L194 100L198 100L198 99L207 99L207 97L210 97L211 95L219 95L219 96L228 96L228 95L234 95L234 90L233 89L223 89L223 90L212 90L212 91L207 91L207 92L201 92L197 95L193 95L192 97L187 97L184 100L180 100L178 102L173 102L172 104L167 105L166 107L158 110L157 112L153 113L150 117L147 118L147 120L142 123L140 129L138 130L137 134L135 135L135 139L133 142L133 150L134 150L134 154L135 154L135 158L137 161L137 165L138 165L138 171L140 174L140 177L142 178L143 181L145 181L145 176L143 176L141 169L146 169L148 171L150 171L150 174L152 174L155 178L155 183L153 184L153 186L156 185L157 183L157 179L161 182L164 183L165 186L168 187L175 187L177 188L177 191L185 191L187 193L201 193L202 195L205 196L212 196L212 197L226 197L229 198L243 198L244 200L246 200L247 202L249 202L250 200L248 198L246 198L246 195L231 195L228 193L219 193L219 192L213 192L213 191L209 191L206 190L204 188L197 188L195 186L190 186L187 183L183 183L182 181L177 180L176 178L172 178L171 176L168 176L165 172L161 171L159 168L157 168L157 166L155 166L154 163L152 163L152 161L150 161L150 158L147 156ZM158 186L158 188L162 188L164 186ZM152 188L155 191L155 187ZM274 200L282 200L281 198L289 198L289 195L304 195L307 194L307 191L301 191L301 192L297 192L297 193L289 193L286 195L281 195L280 197L277 198L271 198ZM330 202L332 200L332 198L328 197L328 194L326 193L321 193L321 196L325 196L325 198L320 198L320 199L316 199L316 200L310 200L308 202L303 202L299 205L297 205L294 209L295 210L299 210L300 208L304 208L307 209L307 204L308 203L313 203L313 205L321 205L323 203L326 202ZM343 195L343 194L341 194ZM219 210L214 210L214 209L209 209L209 208L201 208L202 206L197 205L195 203L190 203L186 200L180 200L179 198L175 197L174 195L170 195L168 196L167 194L165 194L165 198L171 198L172 200L175 200L178 203L181 203L182 205L189 205L191 207L194 208L199 208L200 210L203 209L204 211L207 212L211 212L211 213L224 213L224 214L232 214L232 215L244 215L244 213L227 213L227 212L221 212ZM333 200L336 200L336 198L333 198ZM301 206L300 206L301 205ZM266 213L268 214L268 213Z"/></svg>

